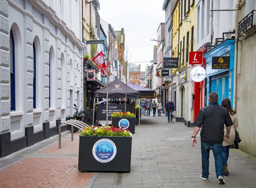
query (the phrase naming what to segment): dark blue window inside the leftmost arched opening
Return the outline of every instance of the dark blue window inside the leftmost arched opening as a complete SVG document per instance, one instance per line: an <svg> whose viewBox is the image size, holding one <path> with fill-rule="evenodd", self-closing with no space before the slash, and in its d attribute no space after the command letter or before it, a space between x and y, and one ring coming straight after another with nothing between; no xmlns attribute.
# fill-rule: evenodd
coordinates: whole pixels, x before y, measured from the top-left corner
<svg viewBox="0 0 256 188"><path fill-rule="evenodd" d="M10 38L12 40L12 70L10 70L10 110L15 111L16 110L16 95L15 95L15 40L14 35L12 32L12 29L10 31ZM11 67L11 61L10 61L10 67Z"/></svg>

